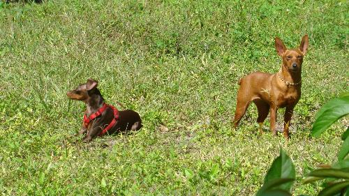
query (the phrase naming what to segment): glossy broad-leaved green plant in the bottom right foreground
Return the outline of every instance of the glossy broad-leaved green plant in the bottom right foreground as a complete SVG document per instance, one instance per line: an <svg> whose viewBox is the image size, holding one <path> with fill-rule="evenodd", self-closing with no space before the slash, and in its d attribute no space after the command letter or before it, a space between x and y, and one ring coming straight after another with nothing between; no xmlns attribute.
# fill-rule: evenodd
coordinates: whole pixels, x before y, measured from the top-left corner
<svg viewBox="0 0 349 196"><path fill-rule="evenodd" d="M326 103L316 114L311 135L319 136L333 123L349 114L349 93ZM338 162L329 168L315 169L304 179L304 183L325 180L326 186L318 196L349 195L349 128L342 135L344 140L338 154ZM291 195L290 187L295 180L292 160L281 149L265 176L264 185L258 190L260 195Z"/></svg>

